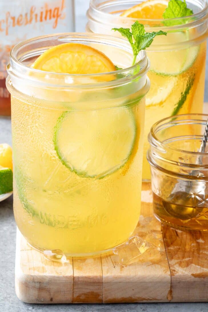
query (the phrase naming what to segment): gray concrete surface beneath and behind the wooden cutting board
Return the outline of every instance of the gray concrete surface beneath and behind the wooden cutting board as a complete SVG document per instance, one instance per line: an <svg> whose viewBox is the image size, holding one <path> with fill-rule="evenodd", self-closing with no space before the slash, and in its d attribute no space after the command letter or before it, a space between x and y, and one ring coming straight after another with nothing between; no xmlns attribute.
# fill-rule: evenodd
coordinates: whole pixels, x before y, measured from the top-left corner
<svg viewBox="0 0 208 312"><path fill-rule="evenodd" d="M88 8L88 0L76 2L76 30L84 31ZM208 76L208 70L206 70ZM206 80L206 89L208 81ZM205 92L208 101L208 90ZM0 117L0 143L11 145L11 119ZM14 288L16 225L13 217L12 197L0 203L0 311L111 311L111 312L207 312L208 303L140 303L140 304L108 304L108 305L31 305L17 299Z"/></svg>

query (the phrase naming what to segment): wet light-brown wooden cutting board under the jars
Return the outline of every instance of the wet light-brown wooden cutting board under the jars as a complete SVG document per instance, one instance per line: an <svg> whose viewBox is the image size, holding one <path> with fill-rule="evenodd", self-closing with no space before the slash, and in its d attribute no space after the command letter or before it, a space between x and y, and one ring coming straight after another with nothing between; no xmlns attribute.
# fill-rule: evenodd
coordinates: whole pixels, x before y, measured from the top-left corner
<svg viewBox="0 0 208 312"><path fill-rule="evenodd" d="M149 183L143 185L131 241L118 255L60 263L32 249L17 231L17 296L29 303L208 301L208 231L161 226L153 216Z"/></svg>

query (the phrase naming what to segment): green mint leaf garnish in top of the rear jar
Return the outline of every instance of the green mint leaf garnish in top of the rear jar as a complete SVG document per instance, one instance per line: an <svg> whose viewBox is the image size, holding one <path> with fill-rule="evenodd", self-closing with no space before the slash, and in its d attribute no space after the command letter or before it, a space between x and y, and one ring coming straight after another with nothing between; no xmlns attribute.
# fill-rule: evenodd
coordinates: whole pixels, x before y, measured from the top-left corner
<svg viewBox="0 0 208 312"><path fill-rule="evenodd" d="M193 14L193 11L187 8L186 1L181 0L170 0L168 2L168 6L165 9L165 12L162 14L164 19L169 18L179 18L179 17L186 17ZM183 24L184 20L181 21L165 21L166 26L173 26L178 24Z"/></svg>

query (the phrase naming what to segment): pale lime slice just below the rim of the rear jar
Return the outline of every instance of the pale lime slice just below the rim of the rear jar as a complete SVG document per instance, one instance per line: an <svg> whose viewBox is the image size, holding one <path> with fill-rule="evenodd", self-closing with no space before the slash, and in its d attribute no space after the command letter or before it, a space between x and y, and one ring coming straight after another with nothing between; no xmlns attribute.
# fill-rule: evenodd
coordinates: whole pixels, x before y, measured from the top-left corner
<svg viewBox="0 0 208 312"><path fill-rule="evenodd" d="M184 32L172 32L168 33L167 37L155 37L154 44L161 45L161 51L148 51L151 71L162 76L177 76L190 68L199 53L199 46L191 46L185 49L179 47L177 50L162 51L166 45L172 45L174 49L174 44L187 41L187 36Z"/></svg>

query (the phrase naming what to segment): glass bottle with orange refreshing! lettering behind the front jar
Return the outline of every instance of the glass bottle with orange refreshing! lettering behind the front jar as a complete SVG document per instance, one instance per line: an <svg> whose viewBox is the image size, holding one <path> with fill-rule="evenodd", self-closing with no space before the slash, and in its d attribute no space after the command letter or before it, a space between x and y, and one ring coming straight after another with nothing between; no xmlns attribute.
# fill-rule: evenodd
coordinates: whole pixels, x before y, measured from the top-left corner
<svg viewBox="0 0 208 312"><path fill-rule="evenodd" d="M74 0L0 0L0 115L11 115L6 88L13 46L48 33L74 31Z"/></svg>

